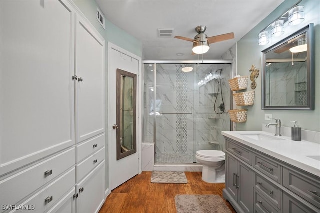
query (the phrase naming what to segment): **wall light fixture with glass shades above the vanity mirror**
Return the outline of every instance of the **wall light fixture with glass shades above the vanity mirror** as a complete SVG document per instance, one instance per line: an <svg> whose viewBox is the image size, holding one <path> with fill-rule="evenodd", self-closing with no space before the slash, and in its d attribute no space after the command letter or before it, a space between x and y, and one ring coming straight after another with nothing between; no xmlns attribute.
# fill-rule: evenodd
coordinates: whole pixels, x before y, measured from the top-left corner
<svg viewBox="0 0 320 213"><path fill-rule="evenodd" d="M270 43L270 35L271 37L278 37L284 34L286 23L289 26L294 26L304 21L304 6L298 5L301 1L296 2L287 12L259 32L258 44L260 46Z"/></svg>

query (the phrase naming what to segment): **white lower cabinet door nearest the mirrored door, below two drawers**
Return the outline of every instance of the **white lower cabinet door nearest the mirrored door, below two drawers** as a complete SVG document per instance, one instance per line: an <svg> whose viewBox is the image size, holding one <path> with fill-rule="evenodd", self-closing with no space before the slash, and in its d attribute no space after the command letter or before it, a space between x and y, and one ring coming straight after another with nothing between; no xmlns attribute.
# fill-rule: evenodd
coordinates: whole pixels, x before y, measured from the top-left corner
<svg viewBox="0 0 320 213"><path fill-rule="evenodd" d="M76 184L76 212L97 213L105 200L105 161Z"/></svg>

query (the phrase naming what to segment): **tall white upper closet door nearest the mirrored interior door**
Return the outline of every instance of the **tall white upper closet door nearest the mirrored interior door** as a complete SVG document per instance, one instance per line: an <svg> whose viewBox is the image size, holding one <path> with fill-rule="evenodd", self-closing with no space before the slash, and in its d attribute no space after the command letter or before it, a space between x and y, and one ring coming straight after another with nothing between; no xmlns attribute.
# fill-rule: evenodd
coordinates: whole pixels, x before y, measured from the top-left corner
<svg viewBox="0 0 320 213"><path fill-rule="evenodd" d="M77 143L104 132L104 39L76 16Z"/></svg>

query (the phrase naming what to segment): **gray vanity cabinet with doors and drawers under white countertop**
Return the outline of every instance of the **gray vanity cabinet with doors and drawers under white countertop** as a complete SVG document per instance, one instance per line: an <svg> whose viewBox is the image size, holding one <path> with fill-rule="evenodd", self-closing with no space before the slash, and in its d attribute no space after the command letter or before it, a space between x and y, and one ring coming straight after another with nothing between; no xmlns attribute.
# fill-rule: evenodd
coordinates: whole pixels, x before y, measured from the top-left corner
<svg viewBox="0 0 320 213"><path fill-rule="evenodd" d="M223 197L238 213L320 213L320 179L225 138Z"/></svg>

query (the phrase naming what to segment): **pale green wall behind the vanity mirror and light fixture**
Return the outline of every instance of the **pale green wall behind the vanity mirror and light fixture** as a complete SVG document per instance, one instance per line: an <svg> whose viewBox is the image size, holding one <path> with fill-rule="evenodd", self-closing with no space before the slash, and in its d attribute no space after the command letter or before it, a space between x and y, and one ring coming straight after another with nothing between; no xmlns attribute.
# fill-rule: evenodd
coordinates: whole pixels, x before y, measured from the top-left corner
<svg viewBox="0 0 320 213"><path fill-rule="evenodd" d="M247 121L238 123L237 130L261 130L264 114L272 114L273 118L281 119L282 126L292 126L291 120L297 120L302 129L320 131L320 1L303 0L299 5L304 5L305 20L296 25L285 28L285 33L277 41L284 39L309 23L314 23L315 38L315 110L262 110L261 109L261 51L272 46L277 41L268 45L258 45L258 33L268 26L273 20L285 13L296 1L286 0L269 16L255 26L249 33L237 42L237 74L250 75L252 64L260 70L255 89L254 105L243 108L248 109ZM250 83L250 80L249 80ZM252 90L248 86L248 91ZM238 107L240 108L240 107ZM274 122L274 121L271 121Z"/></svg>

